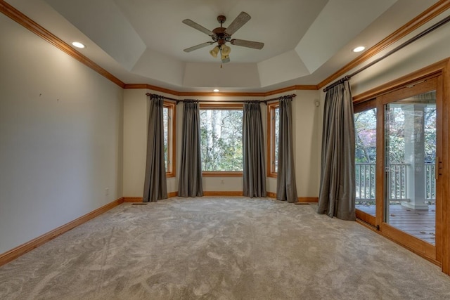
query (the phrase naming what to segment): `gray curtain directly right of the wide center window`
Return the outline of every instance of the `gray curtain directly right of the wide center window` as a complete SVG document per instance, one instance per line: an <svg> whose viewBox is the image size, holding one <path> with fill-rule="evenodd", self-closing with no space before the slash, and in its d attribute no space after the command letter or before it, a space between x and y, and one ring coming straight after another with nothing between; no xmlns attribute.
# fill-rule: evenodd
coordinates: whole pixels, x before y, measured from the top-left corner
<svg viewBox="0 0 450 300"><path fill-rule="evenodd" d="M259 101L244 103L243 195L266 197L264 133Z"/></svg>

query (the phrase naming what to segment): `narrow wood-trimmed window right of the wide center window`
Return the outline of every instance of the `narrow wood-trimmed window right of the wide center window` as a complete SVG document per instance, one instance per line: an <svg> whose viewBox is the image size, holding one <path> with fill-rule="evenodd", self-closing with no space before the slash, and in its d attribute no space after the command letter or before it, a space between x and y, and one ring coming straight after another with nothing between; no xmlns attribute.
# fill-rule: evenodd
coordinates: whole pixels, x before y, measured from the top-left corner
<svg viewBox="0 0 450 300"><path fill-rule="evenodd" d="M280 126L280 107L278 102L267 105L267 136L269 147L267 151L267 176L278 174L278 127Z"/></svg>

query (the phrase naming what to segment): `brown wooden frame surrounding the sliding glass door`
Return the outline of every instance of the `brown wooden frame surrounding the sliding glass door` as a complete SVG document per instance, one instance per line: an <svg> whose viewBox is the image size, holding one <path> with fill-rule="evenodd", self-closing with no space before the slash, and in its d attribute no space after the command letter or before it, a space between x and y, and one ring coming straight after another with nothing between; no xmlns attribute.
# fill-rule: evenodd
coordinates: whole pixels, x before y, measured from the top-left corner
<svg viewBox="0 0 450 300"><path fill-rule="evenodd" d="M424 79L430 79L432 77L439 77L439 75L441 75L441 80L437 81L437 91L440 91L440 95L442 97L442 101L440 101L440 103L442 103L442 107L440 108L440 111L442 111L442 118L440 122L442 122L442 124L437 124L437 126L441 126L440 128L440 132L442 134L441 139L442 139L442 171L441 171L441 175L440 177L440 183L442 188L441 188L441 201L439 202L441 205L440 210L442 211L441 215L437 215L437 223L436 223L436 230L439 230L440 235L441 235L441 242L440 242L440 246L439 249L438 247L436 248L436 259L431 259L430 256L425 255L427 252L430 251L430 249L422 249L423 251L416 251L415 249L413 249L412 247L410 247L408 244L402 244L401 241L395 241L399 244L401 244L402 246L406 247L407 249L410 249L412 252L415 252L416 254L423 256L425 259L428 259L430 261L432 261L433 263L436 263L439 266L442 266L442 271L444 273L446 273L447 275L450 275L450 168L449 168L449 164L450 164L450 74L449 74L449 70L450 70L450 58L446 58L445 60L441 60L438 63L435 63L433 65L430 65L428 67L424 67L423 69L420 69L416 72L413 72L411 74L408 74L404 77L400 77L399 79L396 79L394 81L390 81L387 84L383 84L381 86L378 86L375 89L371 89L369 91L366 91L364 93L361 93L359 95L356 95L353 97L353 103L354 105L358 105L361 103L364 103L368 100L372 100L374 98L380 97L386 93L391 93L393 91L397 91L399 89L401 89L403 86L409 85L409 84L414 84L414 83L418 83ZM437 92L439 93L439 92ZM377 107L377 114L378 113L384 113L383 112L383 107L381 112L378 112L379 109ZM377 115L378 118L378 115ZM439 119L439 118L438 118ZM378 125L380 122L377 123L377 131L381 130L380 132L382 132L384 134L384 128L378 128ZM381 140L381 141L378 141ZM384 140L377 138L377 148L378 148L378 143L384 143ZM383 146L381 147L381 149L383 149ZM380 155L384 155L384 150L383 153L380 153ZM377 150L377 156L378 156L378 150ZM383 190L379 190L379 185L383 184L384 185L384 171L380 174L380 172L378 171L378 168L383 168L383 161L378 162L381 159L377 159L377 187L376 187L376 194L378 195L378 197L382 196L383 197ZM378 164L381 164L381 166L379 166ZM383 178L378 178L378 176L383 176ZM379 181L382 180L382 181ZM383 185L381 185L381 188L383 188ZM377 201L377 205L378 205ZM384 202L384 201L381 201ZM438 202L438 201L437 201ZM378 209L384 209L384 207L377 207ZM378 214L379 216L380 214ZM438 219L440 219L439 224L438 224ZM381 224L383 220L380 219L376 219L376 224ZM387 238L390 238L392 240L392 237L390 237L390 235L388 235L387 233L389 233L390 228L384 227L384 230L380 231L377 230L378 233L380 233L381 235L384 235ZM413 241L415 242L415 241ZM434 249L434 247L433 247ZM437 261L437 259L440 260L440 262Z"/></svg>

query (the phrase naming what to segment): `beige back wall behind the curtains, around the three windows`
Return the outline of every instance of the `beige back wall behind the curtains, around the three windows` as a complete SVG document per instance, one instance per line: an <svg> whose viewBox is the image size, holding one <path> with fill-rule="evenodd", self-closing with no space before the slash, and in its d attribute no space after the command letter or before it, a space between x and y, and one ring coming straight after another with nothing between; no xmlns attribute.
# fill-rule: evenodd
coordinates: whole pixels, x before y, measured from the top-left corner
<svg viewBox="0 0 450 300"><path fill-rule="evenodd" d="M146 93L158 93L143 89L124 91L124 196L142 197L146 165L146 134L148 118L148 99ZM293 91L297 97L293 100L293 126L295 143L295 172L299 197L317 197L319 195L321 105L319 91ZM165 95L174 98L171 95ZM276 98L283 95L274 95ZM269 97L268 97L269 98ZM198 97L198 100L250 100L250 98ZM252 98L253 99L253 98ZM262 100L262 99L261 99ZM262 104L264 141L266 141L266 105ZM176 107L176 174L179 174L181 157L181 131L183 122L183 104ZM267 152L266 152L267 153ZM267 190L276 193L276 178L267 178ZM243 190L242 177L204 177L203 190L210 192ZM176 178L167 178L167 191L178 191Z"/></svg>

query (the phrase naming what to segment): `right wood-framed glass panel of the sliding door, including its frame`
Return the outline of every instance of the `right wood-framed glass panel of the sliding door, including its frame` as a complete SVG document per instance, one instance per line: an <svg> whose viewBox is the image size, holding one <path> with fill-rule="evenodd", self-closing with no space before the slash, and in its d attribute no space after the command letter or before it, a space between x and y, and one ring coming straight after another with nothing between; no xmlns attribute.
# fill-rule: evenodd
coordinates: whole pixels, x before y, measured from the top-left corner
<svg viewBox="0 0 450 300"><path fill-rule="evenodd" d="M377 98L377 192L375 223L394 240L439 261L441 247L439 156L441 128L437 78ZM442 167L442 166L441 166Z"/></svg>

